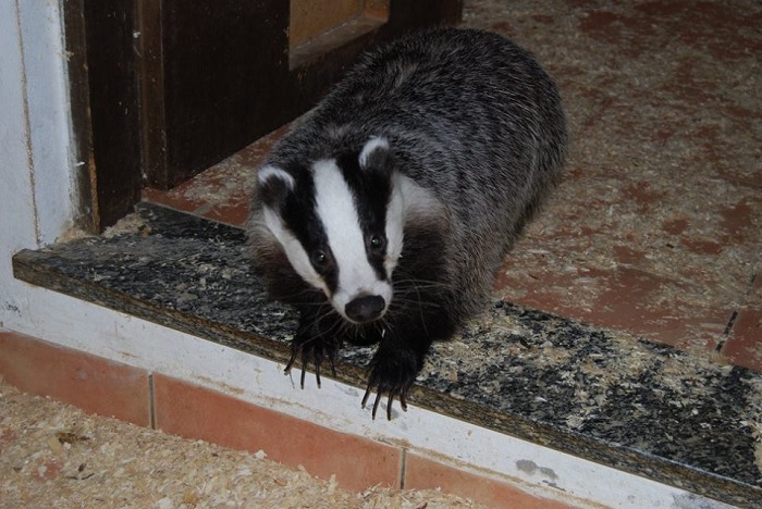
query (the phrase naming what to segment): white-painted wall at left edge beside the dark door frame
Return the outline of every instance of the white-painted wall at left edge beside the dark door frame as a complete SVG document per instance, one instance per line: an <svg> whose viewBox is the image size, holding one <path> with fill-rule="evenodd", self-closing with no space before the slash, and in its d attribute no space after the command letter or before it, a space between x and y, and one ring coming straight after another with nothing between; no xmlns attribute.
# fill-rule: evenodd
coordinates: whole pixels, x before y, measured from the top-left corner
<svg viewBox="0 0 762 509"><path fill-rule="evenodd" d="M62 37L56 1L0 0L0 326L23 320L29 297L11 256L73 218Z"/></svg>

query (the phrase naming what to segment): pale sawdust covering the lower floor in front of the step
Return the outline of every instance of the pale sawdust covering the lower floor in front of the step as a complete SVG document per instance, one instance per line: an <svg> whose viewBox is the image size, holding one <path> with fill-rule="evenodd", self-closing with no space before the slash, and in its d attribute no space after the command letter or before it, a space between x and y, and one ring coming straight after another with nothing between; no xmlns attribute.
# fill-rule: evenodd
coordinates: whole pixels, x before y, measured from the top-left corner
<svg viewBox="0 0 762 509"><path fill-rule="evenodd" d="M477 508L440 491L353 493L250 454L87 414L0 378L0 508Z"/></svg>

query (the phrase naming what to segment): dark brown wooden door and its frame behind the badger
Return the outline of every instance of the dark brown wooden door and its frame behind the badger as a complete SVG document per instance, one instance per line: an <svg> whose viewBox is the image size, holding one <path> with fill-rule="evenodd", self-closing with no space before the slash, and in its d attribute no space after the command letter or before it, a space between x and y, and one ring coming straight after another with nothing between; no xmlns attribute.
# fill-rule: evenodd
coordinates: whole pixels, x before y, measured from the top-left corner
<svg viewBox="0 0 762 509"><path fill-rule="evenodd" d="M83 225L311 108L357 57L459 21L462 0L66 0Z"/></svg>

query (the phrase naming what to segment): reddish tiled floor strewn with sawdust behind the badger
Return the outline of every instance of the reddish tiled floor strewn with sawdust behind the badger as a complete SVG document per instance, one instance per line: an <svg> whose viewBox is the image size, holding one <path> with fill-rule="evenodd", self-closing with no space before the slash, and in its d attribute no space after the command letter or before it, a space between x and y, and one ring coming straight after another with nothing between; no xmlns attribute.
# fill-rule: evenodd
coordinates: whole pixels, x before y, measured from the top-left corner
<svg viewBox="0 0 762 509"><path fill-rule="evenodd" d="M762 370L762 5L467 1L464 25L538 55L573 139L496 295ZM284 131L145 198L243 224Z"/></svg>

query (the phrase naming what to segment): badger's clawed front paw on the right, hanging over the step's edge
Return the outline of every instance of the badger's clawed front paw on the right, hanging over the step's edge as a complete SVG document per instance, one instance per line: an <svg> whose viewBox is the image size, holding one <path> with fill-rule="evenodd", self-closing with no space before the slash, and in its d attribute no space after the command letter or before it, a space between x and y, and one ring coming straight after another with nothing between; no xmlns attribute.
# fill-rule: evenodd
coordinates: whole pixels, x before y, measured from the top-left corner
<svg viewBox="0 0 762 509"><path fill-rule="evenodd" d="M420 371L420 361L414 352L379 348L370 361L370 375L368 388L362 397L362 408L368 402L370 393L376 390L373 419L384 394L386 395L386 419L392 420L394 398L398 398L400 406L407 411L407 392L416 381L418 371Z"/></svg>

